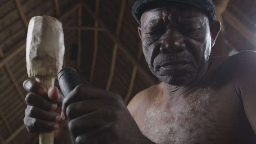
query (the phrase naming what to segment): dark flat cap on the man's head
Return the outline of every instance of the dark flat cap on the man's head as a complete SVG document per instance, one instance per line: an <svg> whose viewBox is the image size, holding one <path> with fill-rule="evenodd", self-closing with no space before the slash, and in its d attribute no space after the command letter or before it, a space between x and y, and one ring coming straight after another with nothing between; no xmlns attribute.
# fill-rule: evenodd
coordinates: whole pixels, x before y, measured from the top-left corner
<svg viewBox="0 0 256 144"><path fill-rule="evenodd" d="M141 15L145 10L149 9L149 6L152 6L152 4L157 2L179 2L190 4L204 10L210 20L215 20L216 18L216 9L211 0L137 0L132 6L132 15L138 24L140 24Z"/></svg>

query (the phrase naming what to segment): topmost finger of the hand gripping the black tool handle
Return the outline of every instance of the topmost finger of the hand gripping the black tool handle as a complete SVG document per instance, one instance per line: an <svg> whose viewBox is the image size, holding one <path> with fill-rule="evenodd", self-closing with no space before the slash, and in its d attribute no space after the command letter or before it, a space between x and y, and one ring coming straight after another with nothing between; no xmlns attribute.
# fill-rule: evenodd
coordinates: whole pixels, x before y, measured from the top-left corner
<svg viewBox="0 0 256 144"><path fill-rule="evenodd" d="M92 86L78 85L63 100L61 117L66 119L66 109L68 105L89 99L98 99L108 95L106 91Z"/></svg>

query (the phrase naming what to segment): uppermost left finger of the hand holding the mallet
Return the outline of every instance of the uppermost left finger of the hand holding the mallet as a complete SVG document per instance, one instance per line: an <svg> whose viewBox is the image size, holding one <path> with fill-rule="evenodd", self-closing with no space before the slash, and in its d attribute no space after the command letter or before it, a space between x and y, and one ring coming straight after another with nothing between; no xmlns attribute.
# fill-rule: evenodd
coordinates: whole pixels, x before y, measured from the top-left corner
<svg viewBox="0 0 256 144"><path fill-rule="evenodd" d="M34 79L27 79L23 82L23 87L28 92L35 92L37 94L40 94L42 96L45 96L46 89L41 86L36 80Z"/></svg>

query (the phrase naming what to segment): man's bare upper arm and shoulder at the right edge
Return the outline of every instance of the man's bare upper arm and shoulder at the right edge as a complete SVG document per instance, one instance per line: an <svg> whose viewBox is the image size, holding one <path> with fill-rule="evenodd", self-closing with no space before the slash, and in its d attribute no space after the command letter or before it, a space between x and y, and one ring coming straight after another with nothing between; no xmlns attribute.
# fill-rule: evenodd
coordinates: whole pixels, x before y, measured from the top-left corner
<svg viewBox="0 0 256 144"><path fill-rule="evenodd" d="M253 131L256 133L256 52L231 56L222 66L220 83L232 81Z"/></svg>

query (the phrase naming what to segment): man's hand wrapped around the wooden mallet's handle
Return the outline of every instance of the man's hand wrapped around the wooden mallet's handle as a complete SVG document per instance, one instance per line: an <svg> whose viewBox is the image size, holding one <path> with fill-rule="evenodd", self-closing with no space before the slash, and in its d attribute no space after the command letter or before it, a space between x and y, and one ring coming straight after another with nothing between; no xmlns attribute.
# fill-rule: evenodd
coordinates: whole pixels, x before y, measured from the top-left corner
<svg viewBox="0 0 256 144"><path fill-rule="evenodd" d="M67 120L61 120L61 106L64 99L57 87L46 89L33 79L25 80L24 89L28 91L25 100L24 124L28 132L39 135L39 131L54 131L55 142L72 144ZM62 143L64 144L64 143Z"/></svg>

